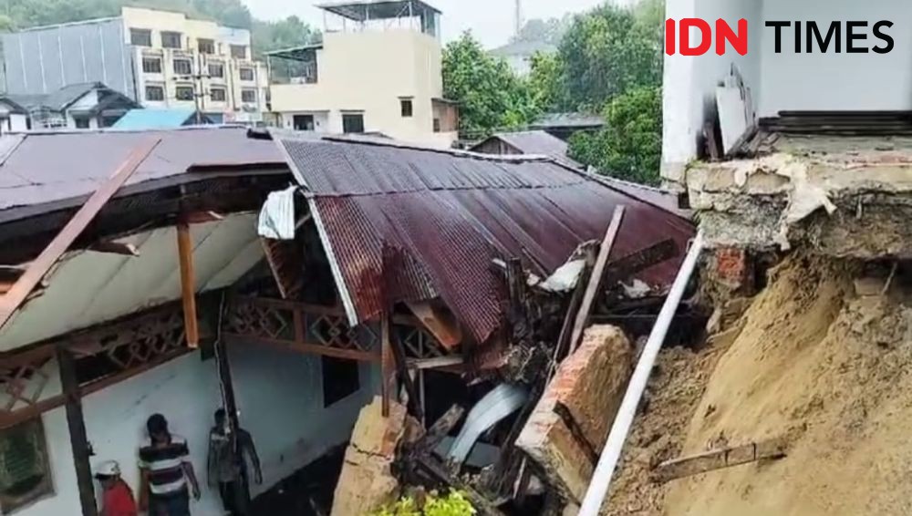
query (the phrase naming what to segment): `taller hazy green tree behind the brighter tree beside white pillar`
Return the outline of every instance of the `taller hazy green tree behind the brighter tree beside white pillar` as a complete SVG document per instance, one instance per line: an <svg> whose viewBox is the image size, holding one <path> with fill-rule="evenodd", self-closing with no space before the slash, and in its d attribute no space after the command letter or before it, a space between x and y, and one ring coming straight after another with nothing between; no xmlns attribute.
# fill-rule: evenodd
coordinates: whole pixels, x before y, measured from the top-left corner
<svg viewBox="0 0 912 516"><path fill-rule="evenodd" d="M645 20L645 18L644 18ZM598 110L641 86L658 86L662 54L656 29L630 9L606 4L577 15L560 46L565 108Z"/></svg>

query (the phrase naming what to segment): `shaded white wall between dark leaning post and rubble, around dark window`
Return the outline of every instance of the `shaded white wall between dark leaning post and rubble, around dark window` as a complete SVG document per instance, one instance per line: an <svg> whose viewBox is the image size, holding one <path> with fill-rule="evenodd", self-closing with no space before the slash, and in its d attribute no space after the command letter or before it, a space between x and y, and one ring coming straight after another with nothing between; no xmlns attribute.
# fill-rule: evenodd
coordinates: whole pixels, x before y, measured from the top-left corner
<svg viewBox="0 0 912 516"><path fill-rule="evenodd" d="M361 390L324 408L318 356L236 345L229 356L241 426L263 462L264 485L254 495L347 442L358 412L379 392L378 366L361 364Z"/></svg>

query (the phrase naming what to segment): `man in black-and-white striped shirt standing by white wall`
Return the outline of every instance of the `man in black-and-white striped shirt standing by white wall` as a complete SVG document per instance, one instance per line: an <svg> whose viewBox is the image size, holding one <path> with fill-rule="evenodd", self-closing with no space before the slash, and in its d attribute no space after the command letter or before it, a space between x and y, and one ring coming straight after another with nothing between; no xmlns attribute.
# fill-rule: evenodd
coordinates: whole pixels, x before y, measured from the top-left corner
<svg viewBox="0 0 912 516"><path fill-rule="evenodd" d="M154 414L146 421L149 440L140 448L140 511L150 516L190 516L190 493L200 500L187 440L171 434L168 420Z"/></svg>

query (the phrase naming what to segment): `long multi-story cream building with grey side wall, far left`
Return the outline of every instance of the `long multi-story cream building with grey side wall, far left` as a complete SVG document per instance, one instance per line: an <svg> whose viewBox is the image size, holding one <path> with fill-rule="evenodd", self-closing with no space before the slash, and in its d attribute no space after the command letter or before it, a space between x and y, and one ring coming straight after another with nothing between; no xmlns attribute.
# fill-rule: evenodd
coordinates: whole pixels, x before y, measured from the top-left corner
<svg viewBox="0 0 912 516"><path fill-rule="evenodd" d="M215 121L258 122L267 74L250 31L181 13L124 7L114 18L3 36L6 88L46 94L99 81L146 108L199 108Z"/></svg>

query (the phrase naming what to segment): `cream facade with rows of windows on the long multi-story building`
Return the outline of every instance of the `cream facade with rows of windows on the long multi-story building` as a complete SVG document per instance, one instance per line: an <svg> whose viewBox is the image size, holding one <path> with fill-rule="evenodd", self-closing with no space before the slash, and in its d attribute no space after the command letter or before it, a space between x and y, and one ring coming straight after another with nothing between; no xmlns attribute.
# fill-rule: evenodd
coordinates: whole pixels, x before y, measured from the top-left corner
<svg viewBox="0 0 912 516"><path fill-rule="evenodd" d="M149 108L195 108L194 101L178 100L176 98L176 88L179 86L192 86L195 89L202 88L203 93L206 94L200 98L202 110L223 114L226 122L248 122L262 119L268 77L264 65L253 60L250 31L219 26L210 21L193 20L180 13L135 7L124 7L122 17L125 41L128 45L130 44L131 28L151 31L151 46L130 46L137 67L136 75L139 81L140 99L144 105ZM165 31L181 33L182 48L163 48L161 46L161 33ZM207 55L199 51L200 39L214 41L214 54ZM246 57L243 59L232 57L232 45L246 46ZM161 59L161 74L143 72L142 57ZM193 74L203 76L208 75L211 62L221 63L224 67L224 77L202 77L200 80L192 77L178 77L174 73L175 58L190 59ZM254 80L241 80L240 69L242 67L254 69ZM164 87L164 100L147 100L147 85ZM216 102L212 100L209 95L209 91L212 88L224 88L226 90L225 101ZM255 102L244 102L242 100L242 91L244 89L256 90Z"/></svg>

